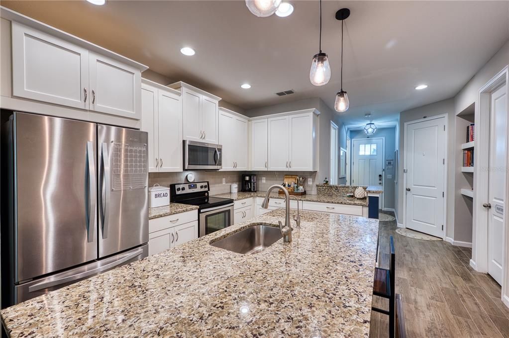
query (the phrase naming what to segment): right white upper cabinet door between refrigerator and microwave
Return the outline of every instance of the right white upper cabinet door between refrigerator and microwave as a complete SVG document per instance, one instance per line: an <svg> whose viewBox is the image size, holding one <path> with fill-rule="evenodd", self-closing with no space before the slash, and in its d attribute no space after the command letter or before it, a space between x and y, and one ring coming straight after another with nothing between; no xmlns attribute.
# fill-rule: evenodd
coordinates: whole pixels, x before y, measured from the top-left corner
<svg viewBox="0 0 509 338"><path fill-rule="evenodd" d="M159 171L182 171L182 107L180 97L159 90Z"/></svg>

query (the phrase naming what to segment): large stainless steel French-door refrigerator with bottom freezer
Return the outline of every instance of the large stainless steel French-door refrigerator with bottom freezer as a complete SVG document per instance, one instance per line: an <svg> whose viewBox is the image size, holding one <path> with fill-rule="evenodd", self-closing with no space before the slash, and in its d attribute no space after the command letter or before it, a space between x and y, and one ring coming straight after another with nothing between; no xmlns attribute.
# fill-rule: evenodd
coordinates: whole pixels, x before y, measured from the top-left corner
<svg viewBox="0 0 509 338"><path fill-rule="evenodd" d="M146 132L19 112L6 130L3 306L147 257Z"/></svg>

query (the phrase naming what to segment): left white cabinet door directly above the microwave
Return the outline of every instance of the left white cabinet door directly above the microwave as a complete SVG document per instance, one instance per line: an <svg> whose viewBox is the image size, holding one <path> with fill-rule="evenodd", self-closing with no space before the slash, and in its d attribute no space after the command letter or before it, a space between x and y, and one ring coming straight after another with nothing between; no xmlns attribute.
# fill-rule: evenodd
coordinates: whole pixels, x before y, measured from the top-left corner
<svg viewBox="0 0 509 338"><path fill-rule="evenodd" d="M184 140L202 141L200 120L202 96L189 89L182 89L182 121Z"/></svg>

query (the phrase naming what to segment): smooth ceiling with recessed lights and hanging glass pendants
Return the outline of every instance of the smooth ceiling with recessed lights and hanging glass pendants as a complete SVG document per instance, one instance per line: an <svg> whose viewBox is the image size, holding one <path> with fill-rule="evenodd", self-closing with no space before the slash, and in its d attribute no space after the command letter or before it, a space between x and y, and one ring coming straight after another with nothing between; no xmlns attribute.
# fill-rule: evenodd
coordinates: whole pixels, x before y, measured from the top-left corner
<svg viewBox="0 0 509 338"><path fill-rule="evenodd" d="M506 1L324 1L322 49L332 78L309 82L318 52L317 1L294 13L258 18L241 1L2 1L12 8L202 87L243 109L320 97L333 108L339 84L340 21L347 7L344 84L347 125L397 118L400 111L450 98L509 39ZM180 53L183 46L194 56ZM241 89L248 82L251 89ZM420 83L428 89L414 90ZM294 89L296 94L274 93Z"/></svg>

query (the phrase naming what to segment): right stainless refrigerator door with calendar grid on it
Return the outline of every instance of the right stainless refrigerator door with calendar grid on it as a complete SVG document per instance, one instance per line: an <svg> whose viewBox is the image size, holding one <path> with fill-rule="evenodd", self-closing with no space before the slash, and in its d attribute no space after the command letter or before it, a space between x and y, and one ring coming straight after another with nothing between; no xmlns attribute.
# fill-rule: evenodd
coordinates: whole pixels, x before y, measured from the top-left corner
<svg viewBox="0 0 509 338"><path fill-rule="evenodd" d="M148 134L97 125L99 258L149 241Z"/></svg>

